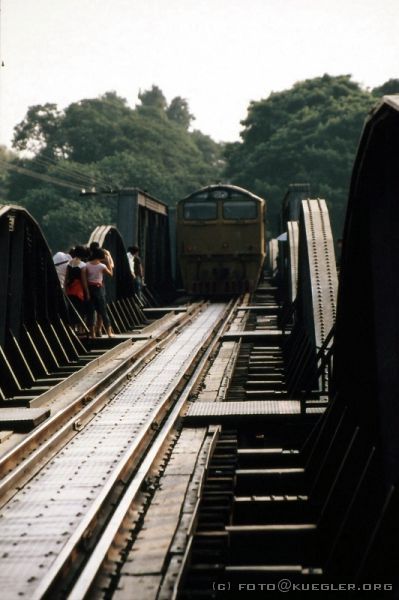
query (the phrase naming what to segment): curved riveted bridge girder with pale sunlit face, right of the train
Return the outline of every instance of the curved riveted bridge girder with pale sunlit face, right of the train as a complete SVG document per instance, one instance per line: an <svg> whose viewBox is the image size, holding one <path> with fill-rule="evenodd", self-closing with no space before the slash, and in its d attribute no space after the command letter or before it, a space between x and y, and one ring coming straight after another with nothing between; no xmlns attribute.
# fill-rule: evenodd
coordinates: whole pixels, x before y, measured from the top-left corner
<svg viewBox="0 0 399 600"><path fill-rule="evenodd" d="M292 296L296 289L294 327L286 345L287 384L290 397L297 397L327 391L320 353L332 344L338 281L325 200L302 200L299 225L288 223L287 242Z"/></svg>

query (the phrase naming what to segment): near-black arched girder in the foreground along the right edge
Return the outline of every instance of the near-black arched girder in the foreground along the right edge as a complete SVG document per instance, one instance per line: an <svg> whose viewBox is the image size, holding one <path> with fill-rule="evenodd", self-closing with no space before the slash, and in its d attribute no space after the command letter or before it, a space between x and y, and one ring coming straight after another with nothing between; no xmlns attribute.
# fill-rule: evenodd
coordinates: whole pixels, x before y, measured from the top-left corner
<svg viewBox="0 0 399 600"><path fill-rule="evenodd" d="M353 168L341 259L333 389L381 440L399 480L399 96L368 117Z"/></svg>

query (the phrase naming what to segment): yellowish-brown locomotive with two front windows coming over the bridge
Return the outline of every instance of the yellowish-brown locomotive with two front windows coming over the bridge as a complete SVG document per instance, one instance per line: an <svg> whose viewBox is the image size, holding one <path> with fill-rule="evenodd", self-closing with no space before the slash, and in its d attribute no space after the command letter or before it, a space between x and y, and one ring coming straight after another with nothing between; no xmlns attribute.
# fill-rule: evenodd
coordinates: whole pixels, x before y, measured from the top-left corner
<svg viewBox="0 0 399 600"><path fill-rule="evenodd" d="M252 292L265 259L263 198L230 184L203 187L177 203L177 257L190 295Z"/></svg>

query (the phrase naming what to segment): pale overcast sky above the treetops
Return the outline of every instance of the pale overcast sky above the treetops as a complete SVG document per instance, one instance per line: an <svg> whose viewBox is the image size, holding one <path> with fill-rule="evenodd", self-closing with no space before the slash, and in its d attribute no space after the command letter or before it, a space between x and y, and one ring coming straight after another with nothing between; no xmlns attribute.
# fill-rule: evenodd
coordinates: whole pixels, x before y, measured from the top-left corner
<svg viewBox="0 0 399 600"><path fill-rule="evenodd" d="M239 139L250 100L296 81L399 77L399 0L0 0L0 143L27 108L158 85Z"/></svg>

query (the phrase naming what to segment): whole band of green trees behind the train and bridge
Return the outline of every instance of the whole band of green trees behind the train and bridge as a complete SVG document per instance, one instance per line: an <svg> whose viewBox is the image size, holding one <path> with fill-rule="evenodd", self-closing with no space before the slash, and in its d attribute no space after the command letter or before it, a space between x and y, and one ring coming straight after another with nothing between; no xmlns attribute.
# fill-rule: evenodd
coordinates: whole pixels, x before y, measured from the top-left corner
<svg viewBox="0 0 399 600"><path fill-rule="evenodd" d="M251 102L242 140L225 145L192 130L187 101L177 96L168 104L157 86L141 92L134 108L115 92L65 110L32 106L14 134L24 158L0 148L0 201L26 206L58 250L87 240L94 225L115 222L115 196L81 196L82 188L139 187L174 204L224 178L266 198L269 233L276 234L288 184L310 183L340 235L364 119L380 96L395 92L398 79L371 91L349 75L298 82Z"/></svg>

